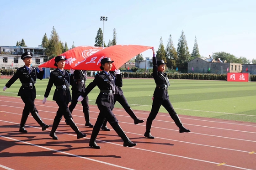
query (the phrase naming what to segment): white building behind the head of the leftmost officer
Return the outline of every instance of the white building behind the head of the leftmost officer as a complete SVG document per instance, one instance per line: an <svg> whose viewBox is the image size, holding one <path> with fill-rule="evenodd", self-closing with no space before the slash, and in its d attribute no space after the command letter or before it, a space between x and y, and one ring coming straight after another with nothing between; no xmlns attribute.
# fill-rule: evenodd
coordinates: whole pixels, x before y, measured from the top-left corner
<svg viewBox="0 0 256 170"><path fill-rule="evenodd" d="M42 45L38 45L38 47L0 46L0 68L16 69L24 66L24 62L21 60L21 55L24 52L32 52L32 66L41 65L48 60L48 57L45 56L45 49Z"/></svg>

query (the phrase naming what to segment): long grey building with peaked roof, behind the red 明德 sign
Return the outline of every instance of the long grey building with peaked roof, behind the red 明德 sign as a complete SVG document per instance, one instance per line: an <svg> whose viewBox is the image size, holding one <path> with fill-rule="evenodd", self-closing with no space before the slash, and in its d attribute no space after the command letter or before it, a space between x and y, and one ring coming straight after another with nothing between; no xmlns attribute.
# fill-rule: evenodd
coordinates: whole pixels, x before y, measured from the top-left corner
<svg viewBox="0 0 256 170"><path fill-rule="evenodd" d="M226 74L227 72L242 72L243 66L240 63L227 63L220 59L195 58L188 62L187 72Z"/></svg>

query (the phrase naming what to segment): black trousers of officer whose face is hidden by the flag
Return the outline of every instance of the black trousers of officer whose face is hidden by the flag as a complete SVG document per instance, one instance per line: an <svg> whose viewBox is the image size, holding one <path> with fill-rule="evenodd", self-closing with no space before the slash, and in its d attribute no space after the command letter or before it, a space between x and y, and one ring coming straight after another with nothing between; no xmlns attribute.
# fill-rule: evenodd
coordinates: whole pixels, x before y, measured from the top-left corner
<svg viewBox="0 0 256 170"><path fill-rule="evenodd" d="M81 92L78 91L72 91L72 101L71 104L69 105L69 110L72 113L76 104L77 104L77 99L81 95ZM81 101L82 106L83 106L83 112L85 114L85 122L90 122L89 118L89 98L88 96L85 96L85 98Z"/></svg>

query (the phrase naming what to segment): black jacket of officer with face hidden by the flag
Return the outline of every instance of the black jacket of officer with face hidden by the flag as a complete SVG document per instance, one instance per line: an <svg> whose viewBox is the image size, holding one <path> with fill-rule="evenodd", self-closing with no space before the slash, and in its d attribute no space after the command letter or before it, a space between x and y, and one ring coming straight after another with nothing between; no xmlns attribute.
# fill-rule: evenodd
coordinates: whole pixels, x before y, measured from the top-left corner
<svg viewBox="0 0 256 170"><path fill-rule="evenodd" d="M84 92L85 91L85 74L83 70L75 70L73 74L73 81L70 82L72 85L72 92Z"/></svg>

